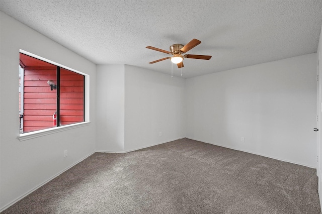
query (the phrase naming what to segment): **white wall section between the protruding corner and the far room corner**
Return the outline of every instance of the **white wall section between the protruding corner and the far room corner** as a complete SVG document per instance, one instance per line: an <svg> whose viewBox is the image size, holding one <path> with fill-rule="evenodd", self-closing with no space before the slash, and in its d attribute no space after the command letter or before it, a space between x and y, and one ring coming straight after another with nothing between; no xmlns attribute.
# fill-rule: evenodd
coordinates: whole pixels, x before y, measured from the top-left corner
<svg viewBox="0 0 322 214"><path fill-rule="evenodd" d="M185 137L184 100L185 79L125 65L125 151Z"/></svg>

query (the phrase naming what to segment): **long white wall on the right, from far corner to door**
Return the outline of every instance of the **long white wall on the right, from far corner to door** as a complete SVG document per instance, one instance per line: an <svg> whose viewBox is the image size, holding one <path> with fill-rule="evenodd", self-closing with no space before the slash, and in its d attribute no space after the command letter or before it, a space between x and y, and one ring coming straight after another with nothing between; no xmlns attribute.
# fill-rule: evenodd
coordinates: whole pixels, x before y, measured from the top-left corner
<svg viewBox="0 0 322 214"><path fill-rule="evenodd" d="M187 138L316 168L316 54L189 78L186 94Z"/></svg>

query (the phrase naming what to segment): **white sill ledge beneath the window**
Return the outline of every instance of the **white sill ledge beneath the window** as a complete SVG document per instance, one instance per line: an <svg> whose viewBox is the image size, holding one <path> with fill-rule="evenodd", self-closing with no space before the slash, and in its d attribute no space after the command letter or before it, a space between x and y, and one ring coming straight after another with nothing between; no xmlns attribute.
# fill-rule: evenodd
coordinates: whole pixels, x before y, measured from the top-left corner
<svg viewBox="0 0 322 214"><path fill-rule="evenodd" d="M49 129L34 131L34 132L30 132L30 133L24 133L24 134L20 134L18 139L20 141L26 141L26 140L30 140L30 139L33 139L33 138L38 138L38 137L41 137L41 136L66 131L66 130L69 130L69 129L75 129L75 128L78 128L78 127L88 126L88 125L90 125L90 123L91 122L82 122L82 123L77 123L77 124L69 124L69 125L65 125L65 126L59 126L59 127L53 127L53 128L49 128Z"/></svg>

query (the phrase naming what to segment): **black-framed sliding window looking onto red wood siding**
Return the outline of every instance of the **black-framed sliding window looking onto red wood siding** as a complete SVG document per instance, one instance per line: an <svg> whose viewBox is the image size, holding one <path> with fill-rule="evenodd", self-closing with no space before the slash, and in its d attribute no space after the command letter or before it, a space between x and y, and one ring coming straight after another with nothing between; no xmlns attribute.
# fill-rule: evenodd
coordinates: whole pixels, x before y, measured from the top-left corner
<svg viewBox="0 0 322 214"><path fill-rule="evenodd" d="M20 53L20 133L85 121L85 76Z"/></svg>

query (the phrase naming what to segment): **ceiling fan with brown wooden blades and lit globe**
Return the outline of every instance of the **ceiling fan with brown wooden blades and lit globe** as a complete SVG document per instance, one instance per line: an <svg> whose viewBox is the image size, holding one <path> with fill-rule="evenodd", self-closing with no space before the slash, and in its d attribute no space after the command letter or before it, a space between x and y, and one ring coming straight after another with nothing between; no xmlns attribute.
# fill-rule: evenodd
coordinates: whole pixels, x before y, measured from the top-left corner
<svg viewBox="0 0 322 214"><path fill-rule="evenodd" d="M170 46L170 51L162 50L162 49L159 49L159 48L154 48L152 46L147 46L146 48L148 48L148 49L155 50L155 51L160 51L160 52L163 52L163 53L166 53L166 54L173 55L173 56L169 56L169 57L166 57L166 58L155 60L153 62L149 62L149 64L153 64L155 62L163 61L163 60L166 60L166 59L171 59L171 61L173 63L178 65L178 68L182 68L182 67L184 67L184 65L183 65L183 59L184 58L209 60L211 58L211 56L207 56L207 55L194 55L194 54L182 55L182 54L188 52L190 49L196 47L200 43L201 42L199 40L193 39L190 42L188 42L185 46L182 45L182 44L173 44L173 45Z"/></svg>

